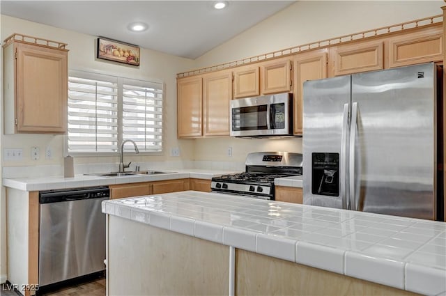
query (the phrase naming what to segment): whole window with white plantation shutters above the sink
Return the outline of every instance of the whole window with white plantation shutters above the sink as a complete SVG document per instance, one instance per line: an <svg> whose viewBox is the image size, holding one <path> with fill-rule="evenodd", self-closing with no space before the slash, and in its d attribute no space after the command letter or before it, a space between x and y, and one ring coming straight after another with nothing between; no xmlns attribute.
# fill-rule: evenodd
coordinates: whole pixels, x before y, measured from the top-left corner
<svg viewBox="0 0 446 296"><path fill-rule="evenodd" d="M68 153L116 153L123 139L162 151L162 84L70 71Z"/></svg>

